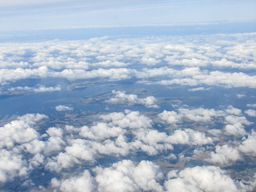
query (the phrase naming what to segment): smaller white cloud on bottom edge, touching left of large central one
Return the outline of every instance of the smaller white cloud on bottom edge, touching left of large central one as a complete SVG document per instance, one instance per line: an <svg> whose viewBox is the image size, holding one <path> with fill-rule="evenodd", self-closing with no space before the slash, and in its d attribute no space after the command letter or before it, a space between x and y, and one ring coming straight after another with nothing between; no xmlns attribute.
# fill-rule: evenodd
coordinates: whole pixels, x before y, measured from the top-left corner
<svg viewBox="0 0 256 192"><path fill-rule="evenodd" d="M51 186L62 192L95 191L94 178L91 177L88 170L84 170L83 173L78 176L62 179L60 181L57 178L53 178L51 180Z"/></svg>

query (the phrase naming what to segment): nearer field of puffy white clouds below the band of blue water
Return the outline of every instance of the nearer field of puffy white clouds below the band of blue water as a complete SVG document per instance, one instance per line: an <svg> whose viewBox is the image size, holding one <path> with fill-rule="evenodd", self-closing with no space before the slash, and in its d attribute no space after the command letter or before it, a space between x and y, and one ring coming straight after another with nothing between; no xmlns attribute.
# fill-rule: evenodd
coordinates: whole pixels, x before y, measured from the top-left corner
<svg viewBox="0 0 256 192"><path fill-rule="evenodd" d="M53 174L62 175L51 178L49 185L44 187L60 191L250 191L254 180L237 182L218 167L243 161L244 155L256 154L254 130L234 134L238 140L232 146L229 144L232 140L225 137L225 123L250 125L242 114L242 110L233 106L223 110L179 108L163 111L158 114L158 120L153 121L138 111L125 110L98 115L98 120L90 125L48 127L40 132L37 123L48 121L47 116L26 114L0 128L0 162L5 165L0 166L0 182L20 178L25 183L33 171L44 167ZM224 124L222 130L208 128L208 131L200 131L178 128L181 121L211 122L213 128L214 122ZM175 130L156 130L155 122L173 125ZM218 141L226 144L218 144ZM181 145L192 147L194 153L184 150L179 154L176 150ZM148 157L161 155L163 159L178 163L200 159L212 166L178 166L179 170L163 174L158 161L126 159L141 153ZM171 153L174 154L170 157ZM98 163L103 157L123 160L102 166ZM90 166L73 176L65 175L65 170L82 165Z"/></svg>

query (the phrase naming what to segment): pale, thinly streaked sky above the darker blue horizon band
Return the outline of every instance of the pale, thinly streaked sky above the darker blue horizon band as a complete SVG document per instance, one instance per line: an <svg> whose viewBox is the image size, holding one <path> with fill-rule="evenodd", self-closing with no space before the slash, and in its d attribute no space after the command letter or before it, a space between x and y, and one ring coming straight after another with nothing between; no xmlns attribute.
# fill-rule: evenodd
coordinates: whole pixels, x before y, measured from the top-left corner
<svg viewBox="0 0 256 192"><path fill-rule="evenodd" d="M0 31L190 25L255 20L254 0L0 1Z"/></svg>

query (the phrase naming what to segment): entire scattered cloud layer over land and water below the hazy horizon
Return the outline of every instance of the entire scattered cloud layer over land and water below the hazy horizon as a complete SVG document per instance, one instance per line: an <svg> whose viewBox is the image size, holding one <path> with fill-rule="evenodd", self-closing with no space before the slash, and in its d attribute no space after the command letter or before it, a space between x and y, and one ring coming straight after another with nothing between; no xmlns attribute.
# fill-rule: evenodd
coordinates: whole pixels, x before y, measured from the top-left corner
<svg viewBox="0 0 256 192"><path fill-rule="evenodd" d="M3 43L1 190L253 191L254 35Z"/></svg>

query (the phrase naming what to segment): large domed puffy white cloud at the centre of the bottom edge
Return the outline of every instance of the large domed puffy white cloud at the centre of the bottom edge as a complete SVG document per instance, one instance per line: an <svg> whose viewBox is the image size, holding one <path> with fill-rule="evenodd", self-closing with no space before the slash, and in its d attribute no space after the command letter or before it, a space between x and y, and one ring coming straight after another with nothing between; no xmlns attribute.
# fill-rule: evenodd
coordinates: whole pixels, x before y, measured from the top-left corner
<svg viewBox="0 0 256 192"><path fill-rule="evenodd" d="M130 160L123 160L94 171L98 191L162 191L159 181L163 174L153 162L142 161L135 166Z"/></svg>

